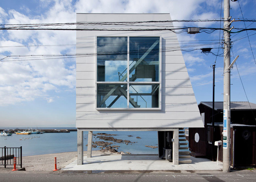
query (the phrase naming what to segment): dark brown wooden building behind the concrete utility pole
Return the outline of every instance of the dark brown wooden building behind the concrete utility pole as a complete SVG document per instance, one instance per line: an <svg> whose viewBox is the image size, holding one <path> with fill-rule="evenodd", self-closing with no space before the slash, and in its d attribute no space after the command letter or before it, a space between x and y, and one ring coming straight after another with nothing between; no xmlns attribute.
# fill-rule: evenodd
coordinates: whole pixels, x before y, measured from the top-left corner
<svg viewBox="0 0 256 182"><path fill-rule="evenodd" d="M223 141L223 102L215 102L215 132L212 127L212 102L198 105L204 128L189 128L189 148L191 155L217 159L217 146L212 153L212 142ZM235 166L256 165L256 104L231 102L231 163ZM209 130L209 131L208 131ZM199 141L195 141L195 134ZM233 138L234 135L234 138ZM233 148L234 144L234 148ZM234 150L233 150L234 149ZM222 161L222 146L219 147L219 161ZM234 158L233 158L234 154Z"/></svg>

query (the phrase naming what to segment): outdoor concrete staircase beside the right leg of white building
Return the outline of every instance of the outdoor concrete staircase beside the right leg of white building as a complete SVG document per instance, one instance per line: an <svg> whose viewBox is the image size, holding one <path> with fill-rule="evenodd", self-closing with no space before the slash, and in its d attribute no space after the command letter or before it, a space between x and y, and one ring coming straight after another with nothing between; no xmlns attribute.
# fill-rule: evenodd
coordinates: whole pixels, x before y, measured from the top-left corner
<svg viewBox="0 0 256 182"><path fill-rule="evenodd" d="M179 163L191 163L188 141L185 137L184 128L179 128Z"/></svg>

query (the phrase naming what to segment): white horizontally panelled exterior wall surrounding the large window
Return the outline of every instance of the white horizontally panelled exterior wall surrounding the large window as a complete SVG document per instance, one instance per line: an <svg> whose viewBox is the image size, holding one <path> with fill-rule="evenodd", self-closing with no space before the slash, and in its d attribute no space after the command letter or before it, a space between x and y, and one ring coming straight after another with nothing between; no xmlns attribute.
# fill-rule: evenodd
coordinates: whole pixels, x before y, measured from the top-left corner
<svg viewBox="0 0 256 182"><path fill-rule="evenodd" d="M77 14L77 22L129 22L152 20L170 20L170 15ZM152 23L152 25L157 25L157 23ZM172 23L166 23L165 26L167 25L172 26ZM84 26L78 27L85 28ZM143 26L120 25L86 26L86 28L145 29ZM162 41L162 48L179 46L176 34L171 31L77 31L76 53L96 54L97 36L160 36L162 37L162 40L160 40ZM162 52L161 110L96 110L96 61L96 56L76 58L77 128L114 130L118 128L168 129L178 127L203 127L181 51Z"/></svg>

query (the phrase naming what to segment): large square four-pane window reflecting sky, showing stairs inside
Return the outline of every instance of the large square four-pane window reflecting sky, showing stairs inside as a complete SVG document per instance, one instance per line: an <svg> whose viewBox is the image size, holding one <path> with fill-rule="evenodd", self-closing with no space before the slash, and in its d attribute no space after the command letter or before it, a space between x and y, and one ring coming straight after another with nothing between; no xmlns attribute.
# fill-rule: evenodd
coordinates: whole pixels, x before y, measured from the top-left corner
<svg viewBox="0 0 256 182"><path fill-rule="evenodd" d="M97 109L160 109L160 46L160 37L97 37Z"/></svg>

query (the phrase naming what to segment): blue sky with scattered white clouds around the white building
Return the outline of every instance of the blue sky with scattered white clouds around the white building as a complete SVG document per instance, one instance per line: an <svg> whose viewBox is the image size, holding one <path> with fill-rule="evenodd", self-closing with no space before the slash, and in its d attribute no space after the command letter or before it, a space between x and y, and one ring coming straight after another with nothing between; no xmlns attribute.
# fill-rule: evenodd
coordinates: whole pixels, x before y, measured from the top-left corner
<svg viewBox="0 0 256 182"><path fill-rule="evenodd" d="M164 6L163 6L164 5ZM256 2L240 1L244 18L256 18ZM75 22L75 13L170 13L172 19L219 19L221 0L9 0L0 1L0 23ZM238 2L231 2L231 16L242 19ZM246 22L249 26L251 22ZM219 22L174 23L175 26L219 27ZM233 22L244 28L243 22ZM248 28L254 28L252 23ZM223 23L221 23L223 27ZM248 31L251 35L255 31ZM75 53L75 46L2 47L15 45L75 44L75 31L0 31L0 58L5 55ZM180 45L218 42L211 34L177 34ZM222 32L221 32L222 37ZM256 103L256 64L246 32L234 33L234 55L250 102ZM256 35L249 37L256 56ZM185 43L185 44L184 44ZM189 44L188 44L189 43ZM218 47L218 45L199 46ZM213 52L217 52L214 49ZM220 49L220 52L223 52ZM183 52L197 102L212 99L212 69L215 56L199 50ZM233 60L233 58L232 58ZM223 57L216 59L216 101L223 100ZM247 101L236 67L231 76L231 100ZM0 63L0 127L75 126L75 58Z"/></svg>

